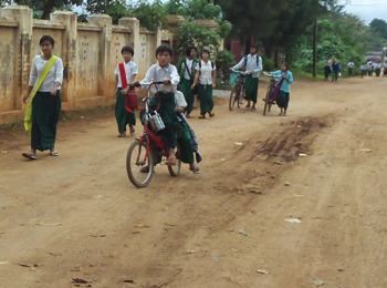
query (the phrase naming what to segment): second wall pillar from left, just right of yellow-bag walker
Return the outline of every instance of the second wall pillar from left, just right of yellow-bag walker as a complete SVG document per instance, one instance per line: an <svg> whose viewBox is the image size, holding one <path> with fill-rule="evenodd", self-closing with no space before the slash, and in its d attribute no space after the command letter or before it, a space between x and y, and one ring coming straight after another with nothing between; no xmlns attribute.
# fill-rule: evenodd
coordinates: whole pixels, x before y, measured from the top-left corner
<svg viewBox="0 0 387 288"><path fill-rule="evenodd" d="M76 100L76 37L77 37L77 17L73 12L55 11L50 16L52 22L61 23L66 27L64 42L64 85L63 104L64 107L73 107Z"/></svg>

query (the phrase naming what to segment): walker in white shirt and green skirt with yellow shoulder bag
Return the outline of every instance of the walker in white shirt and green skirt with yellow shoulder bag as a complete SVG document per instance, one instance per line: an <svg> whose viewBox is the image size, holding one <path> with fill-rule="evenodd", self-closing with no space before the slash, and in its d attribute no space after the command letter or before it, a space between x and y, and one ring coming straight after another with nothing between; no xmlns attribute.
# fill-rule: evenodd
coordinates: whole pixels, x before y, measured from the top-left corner
<svg viewBox="0 0 387 288"><path fill-rule="evenodd" d="M42 54L33 60L28 95L23 96L27 104L24 127L31 132L31 151L22 154L28 160L38 160L36 151L50 151L51 156L59 156L55 140L62 103L63 62L53 55L55 41L52 37L43 35L39 44Z"/></svg>

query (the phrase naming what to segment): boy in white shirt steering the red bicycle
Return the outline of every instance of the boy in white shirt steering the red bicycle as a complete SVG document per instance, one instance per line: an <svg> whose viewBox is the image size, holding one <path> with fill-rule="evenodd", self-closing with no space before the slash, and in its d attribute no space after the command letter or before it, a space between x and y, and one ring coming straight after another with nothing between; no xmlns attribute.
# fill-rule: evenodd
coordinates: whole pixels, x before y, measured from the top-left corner
<svg viewBox="0 0 387 288"><path fill-rule="evenodd" d="M145 79L136 85L149 86L154 82L163 82L157 88L151 88L149 106L157 111L165 124L160 136L167 150L167 165L176 165L175 150L177 146L177 123L175 93L180 82L180 76L175 65L170 64L174 51L169 45L160 45L156 49L157 64L151 65Z"/></svg>

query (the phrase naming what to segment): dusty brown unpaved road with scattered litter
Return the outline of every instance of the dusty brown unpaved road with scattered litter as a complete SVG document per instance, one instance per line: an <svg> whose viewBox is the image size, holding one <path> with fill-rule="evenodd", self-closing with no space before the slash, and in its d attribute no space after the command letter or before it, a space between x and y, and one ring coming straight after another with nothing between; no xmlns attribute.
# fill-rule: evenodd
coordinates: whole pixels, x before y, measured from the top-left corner
<svg viewBox="0 0 387 288"><path fill-rule="evenodd" d="M36 162L1 132L0 287L387 287L386 88L299 82L286 117L218 101L191 120L202 173L145 189L112 117L61 124Z"/></svg>

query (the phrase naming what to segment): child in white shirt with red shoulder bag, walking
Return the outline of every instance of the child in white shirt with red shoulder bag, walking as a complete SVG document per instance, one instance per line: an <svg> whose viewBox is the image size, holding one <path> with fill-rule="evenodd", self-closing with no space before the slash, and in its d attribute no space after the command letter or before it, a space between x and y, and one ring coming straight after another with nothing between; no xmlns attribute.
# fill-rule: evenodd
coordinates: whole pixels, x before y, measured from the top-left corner
<svg viewBox="0 0 387 288"><path fill-rule="evenodd" d="M132 47L123 47L121 51L124 62L117 64L114 74L116 80L115 116L118 126L118 137L126 137L126 126L130 127L130 135L135 133L137 96L129 85L138 74L138 66L132 61L134 50Z"/></svg>

